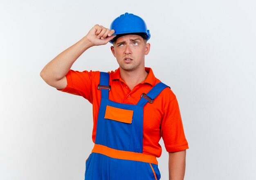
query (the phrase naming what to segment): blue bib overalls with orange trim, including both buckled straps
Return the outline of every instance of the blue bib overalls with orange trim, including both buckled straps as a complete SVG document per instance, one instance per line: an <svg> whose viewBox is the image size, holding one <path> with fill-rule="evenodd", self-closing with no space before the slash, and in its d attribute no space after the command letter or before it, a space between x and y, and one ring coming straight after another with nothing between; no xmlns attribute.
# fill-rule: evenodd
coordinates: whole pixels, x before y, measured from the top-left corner
<svg viewBox="0 0 256 180"><path fill-rule="evenodd" d="M108 99L109 74L100 73L101 104L85 180L159 180L155 156L143 154L143 109L168 86L159 82L137 104Z"/></svg>

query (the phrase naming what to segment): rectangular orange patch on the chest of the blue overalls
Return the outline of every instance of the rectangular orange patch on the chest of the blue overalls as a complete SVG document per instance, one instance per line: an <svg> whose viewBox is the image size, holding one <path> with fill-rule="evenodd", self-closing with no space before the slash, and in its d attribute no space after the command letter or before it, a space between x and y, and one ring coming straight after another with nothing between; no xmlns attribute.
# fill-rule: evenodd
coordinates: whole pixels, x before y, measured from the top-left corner
<svg viewBox="0 0 256 180"><path fill-rule="evenodd" d="M132 114L133 114L132 110L120 109L117 107L112 107L107 105L104 118L131 124Z"/></svg>

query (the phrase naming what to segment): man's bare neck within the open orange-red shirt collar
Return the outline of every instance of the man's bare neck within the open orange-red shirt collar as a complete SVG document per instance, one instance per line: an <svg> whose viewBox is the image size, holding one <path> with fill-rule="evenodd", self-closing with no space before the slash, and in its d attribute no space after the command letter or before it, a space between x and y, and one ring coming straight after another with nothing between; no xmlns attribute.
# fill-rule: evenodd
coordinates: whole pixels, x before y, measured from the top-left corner
<svg viewBox="0 0 256 180"><path fill-rule="evenodd" d="M126 82L130 90L132 90L137 84L143 82L147 78L148 73L145 71L145 67L134 71L126 71L120 68L120 76L124 82Z"/></svg>

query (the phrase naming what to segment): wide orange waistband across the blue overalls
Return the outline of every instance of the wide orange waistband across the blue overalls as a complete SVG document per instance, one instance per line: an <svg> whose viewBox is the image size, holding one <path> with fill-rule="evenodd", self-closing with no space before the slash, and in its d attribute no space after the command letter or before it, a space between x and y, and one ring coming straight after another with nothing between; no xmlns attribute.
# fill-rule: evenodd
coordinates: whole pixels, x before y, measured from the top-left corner
<svg viewBox="0 0 256 180"><path fill-rule="evenodd" d="M100 154L109 156L111 158L158 164L156 156L143 154L143 153L135 153L131 151L121 151L121 150L112 149L112 148L103 146L101 144L94 144L92 153L100 153Z"/></svg>

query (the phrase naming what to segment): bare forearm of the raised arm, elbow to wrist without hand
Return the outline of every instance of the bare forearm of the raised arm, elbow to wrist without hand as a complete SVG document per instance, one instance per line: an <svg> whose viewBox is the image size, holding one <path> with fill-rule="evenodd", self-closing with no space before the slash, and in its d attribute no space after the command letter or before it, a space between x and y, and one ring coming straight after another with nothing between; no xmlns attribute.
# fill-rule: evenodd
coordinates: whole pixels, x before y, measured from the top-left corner
<svg viewBox="0 0 256 180"><path fill-rule="evenodd" d="M90 42L85 36L79 40L79 42L76 42L76 44L72 45L50 61L43 68L40 76L47 82L47 84L53 86L55 82L65 77L77 58L90 47Z"/></svg>

